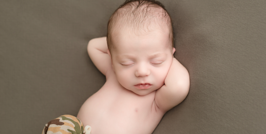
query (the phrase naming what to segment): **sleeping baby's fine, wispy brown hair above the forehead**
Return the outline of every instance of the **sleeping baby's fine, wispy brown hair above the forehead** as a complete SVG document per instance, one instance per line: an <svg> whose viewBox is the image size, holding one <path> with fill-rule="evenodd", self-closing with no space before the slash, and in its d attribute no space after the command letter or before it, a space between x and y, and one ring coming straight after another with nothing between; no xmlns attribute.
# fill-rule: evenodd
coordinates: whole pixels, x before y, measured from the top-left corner
<svg viewBox="0 0 266 134"><path fill-rule="evenodd" d="M126 0L111 15L107 26L108 49L115 48L112 43L117 31L127 28L135 35L152 32L151 28L167 26L169 30L169 47L173 45L171 17L165 6L156 0Z"/></svg>

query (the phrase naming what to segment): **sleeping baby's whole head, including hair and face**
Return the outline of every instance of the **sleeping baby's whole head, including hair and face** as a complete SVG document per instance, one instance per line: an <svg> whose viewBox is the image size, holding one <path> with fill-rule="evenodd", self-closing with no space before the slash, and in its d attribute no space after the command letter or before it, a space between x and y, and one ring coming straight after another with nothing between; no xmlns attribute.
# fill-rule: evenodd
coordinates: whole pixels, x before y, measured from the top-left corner
<svg viewBox="0 0 266 134"><path fill-rule="evenodd" d="M164 85L175 49L171 19L162 3L126 0L108 21L107 45L123 87L147 95Z"/></svg>

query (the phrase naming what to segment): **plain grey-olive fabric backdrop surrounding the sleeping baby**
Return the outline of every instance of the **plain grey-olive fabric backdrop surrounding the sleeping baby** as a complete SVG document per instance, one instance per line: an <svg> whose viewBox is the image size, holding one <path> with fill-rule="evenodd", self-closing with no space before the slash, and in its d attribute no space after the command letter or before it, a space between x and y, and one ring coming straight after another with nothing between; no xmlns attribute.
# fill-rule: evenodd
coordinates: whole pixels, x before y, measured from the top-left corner
<svg viewBox="0 0 266 134"><path fill-rule="evenodd" d="M153 134L266 133L266 0L160 0L187 98ZM105 82L87 43L124 0L0 0L0 134L40 134Z"/></svg>

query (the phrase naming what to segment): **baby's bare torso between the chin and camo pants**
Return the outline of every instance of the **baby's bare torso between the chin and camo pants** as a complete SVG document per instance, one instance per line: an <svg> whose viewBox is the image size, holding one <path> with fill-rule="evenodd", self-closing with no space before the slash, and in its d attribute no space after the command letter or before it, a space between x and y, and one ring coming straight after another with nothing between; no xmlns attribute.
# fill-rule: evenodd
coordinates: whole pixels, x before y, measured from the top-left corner
<svg viewBox="0 0 266 134"><path fill-rule="evenodd" d="M92 127L91 134L152 134L165 114L154 103L155 93L139 96L122 87L111 72L77 118Z"/></svg>

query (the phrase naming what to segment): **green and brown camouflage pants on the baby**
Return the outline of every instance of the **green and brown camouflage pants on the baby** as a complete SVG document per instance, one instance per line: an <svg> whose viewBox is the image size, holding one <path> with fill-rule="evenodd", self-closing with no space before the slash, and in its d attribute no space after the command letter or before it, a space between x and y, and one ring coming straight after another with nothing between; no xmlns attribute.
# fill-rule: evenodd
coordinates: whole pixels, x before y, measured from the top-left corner
<svg viewBox="0 0 266 134"><path fill-rule="evenodd" d="M72 115L62 115L51 120L42 130L41 134L90 134L91 127L83 127L82 122Z"/></svg>

